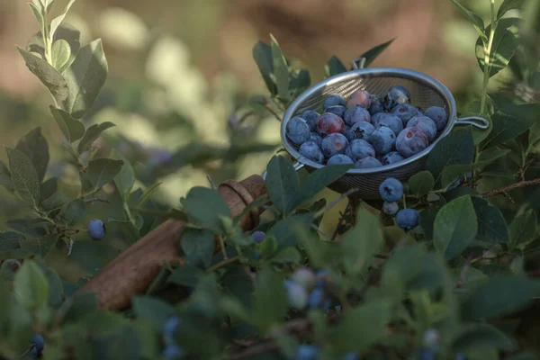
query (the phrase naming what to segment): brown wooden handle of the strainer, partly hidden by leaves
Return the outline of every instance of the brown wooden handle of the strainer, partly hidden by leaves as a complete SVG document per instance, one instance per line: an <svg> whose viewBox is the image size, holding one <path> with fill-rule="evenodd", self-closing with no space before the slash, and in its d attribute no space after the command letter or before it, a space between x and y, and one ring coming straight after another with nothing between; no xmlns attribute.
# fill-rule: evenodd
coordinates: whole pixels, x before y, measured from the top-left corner
<svg viewBox="0 0 540 360"><path fill-rule="evenodd" d="M251 175L240 182L226 181L218 191L229 204L231 215L238 216L247 205L266 194L266 183L260 175ZM249 211L240 220L240 227L249 230L257 226L259 211ZM178 236L184 223L166 220L121 253L111 264L84 284L78 292L97 294L101 309L122 310L130 306L133 295L145 293L161 266L178 260Z"/></svg>

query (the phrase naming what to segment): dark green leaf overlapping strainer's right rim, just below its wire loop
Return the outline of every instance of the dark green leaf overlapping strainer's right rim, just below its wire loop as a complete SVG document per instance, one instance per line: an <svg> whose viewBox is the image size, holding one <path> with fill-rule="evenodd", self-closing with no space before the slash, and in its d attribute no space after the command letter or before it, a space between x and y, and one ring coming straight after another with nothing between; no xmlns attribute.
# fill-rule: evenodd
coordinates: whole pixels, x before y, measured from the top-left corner
<svg viewBox="0 0 540 360"><path fill-rule="evenodd" d="M446 166L468 165L473 162L474 141L470 126L457 128L441 139L428 156L428 170L438 186Z"/></svg>

